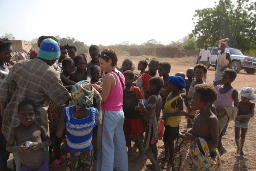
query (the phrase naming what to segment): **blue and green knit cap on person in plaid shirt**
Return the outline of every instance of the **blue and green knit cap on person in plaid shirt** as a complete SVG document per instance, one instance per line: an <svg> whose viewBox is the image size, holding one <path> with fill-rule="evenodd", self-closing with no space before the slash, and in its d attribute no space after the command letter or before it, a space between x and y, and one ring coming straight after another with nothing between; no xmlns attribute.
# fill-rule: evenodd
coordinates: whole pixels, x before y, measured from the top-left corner
<svg viewBox="0 0 256 171"><path fill-rule="evenodd" d="M61 56L58 43L50 38L45 39L39 49L38 57L45 60L54 60Z"/></svg>

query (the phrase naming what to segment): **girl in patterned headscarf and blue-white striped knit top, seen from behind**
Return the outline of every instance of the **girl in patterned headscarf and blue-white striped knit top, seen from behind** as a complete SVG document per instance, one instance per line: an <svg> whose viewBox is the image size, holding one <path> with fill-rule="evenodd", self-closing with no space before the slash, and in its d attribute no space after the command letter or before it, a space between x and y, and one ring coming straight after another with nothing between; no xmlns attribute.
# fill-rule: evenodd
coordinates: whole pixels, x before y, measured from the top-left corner
<svg viewBox="0 0 256 171"><path fill-rule="evenodd" d="M69 107L64 107L57 128L57 137L62 137L67 129L67 168L66 171L91 171L93 165L93 127L100 123L101 100L96 95L97 108L93 103L93 86L87 80L80 81L71 90Z"/></svg>

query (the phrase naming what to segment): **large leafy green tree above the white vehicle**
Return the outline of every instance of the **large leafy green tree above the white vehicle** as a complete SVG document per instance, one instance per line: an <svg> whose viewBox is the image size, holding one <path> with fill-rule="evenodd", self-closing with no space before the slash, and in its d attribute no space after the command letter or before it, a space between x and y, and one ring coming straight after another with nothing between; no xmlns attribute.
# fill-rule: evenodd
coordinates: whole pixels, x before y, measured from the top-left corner
<svg viewBox="0 0 256 171"><path fill-rule="evenodd" d="M256 2L249 0L219 0L215 7L195 10L197 46L218 45L218 40L230 38L229 46L250 51L256 48Z"/></svg>

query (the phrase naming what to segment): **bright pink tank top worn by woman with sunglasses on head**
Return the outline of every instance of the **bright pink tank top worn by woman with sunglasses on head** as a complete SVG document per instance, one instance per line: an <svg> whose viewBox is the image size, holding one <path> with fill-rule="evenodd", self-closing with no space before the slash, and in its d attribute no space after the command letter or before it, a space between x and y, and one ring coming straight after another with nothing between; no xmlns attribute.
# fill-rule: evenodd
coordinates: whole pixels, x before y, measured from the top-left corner
<svg viewBox="0 0 256 171"><path fill-rule="evenodd" d="M108 95L108 99L105 102L102 102L102 111L122 111L122 103L123 103L123 87L118 74L111 71L109 72L112 74L115 80L116 85L111 87L110 93ZM125 77L124 75L120 75L122 82L125 85ZM104 86L104 83L103 83Z"/></svg>

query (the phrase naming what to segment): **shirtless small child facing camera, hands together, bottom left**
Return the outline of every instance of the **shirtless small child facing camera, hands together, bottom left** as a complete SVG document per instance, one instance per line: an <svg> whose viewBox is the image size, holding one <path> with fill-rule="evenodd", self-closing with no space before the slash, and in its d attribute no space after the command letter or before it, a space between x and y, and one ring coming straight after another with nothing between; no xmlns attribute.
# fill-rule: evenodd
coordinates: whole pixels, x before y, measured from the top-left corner
<svg viewBox="0 0 256 171"><path fill-rule="evenodd" d="M35 114L36 105L33 101L20 102L18 118L21 125L12 128L6 145L6 151L19 153L22 164L20 171L49 171L44 148L49 147L52 142L44 127L34 123Z"/></svg>

